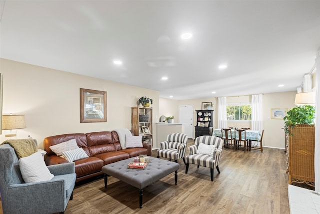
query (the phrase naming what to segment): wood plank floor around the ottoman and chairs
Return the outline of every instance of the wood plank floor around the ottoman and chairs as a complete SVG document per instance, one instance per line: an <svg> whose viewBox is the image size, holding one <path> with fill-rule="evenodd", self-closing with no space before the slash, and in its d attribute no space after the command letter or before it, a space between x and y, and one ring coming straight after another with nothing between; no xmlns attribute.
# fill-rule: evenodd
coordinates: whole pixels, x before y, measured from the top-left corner
<svg viewBox="0 0 320 214"><path fill-rule="evenodd" d="M76 185L64 213L289 213L285 157L281 149L223 149L213 182L209 168L190 164L185 174L179 160L177 185L171 173L144 188L142 208L137 188L109 177L105 189L102 177L92 179Z"/></svg>

